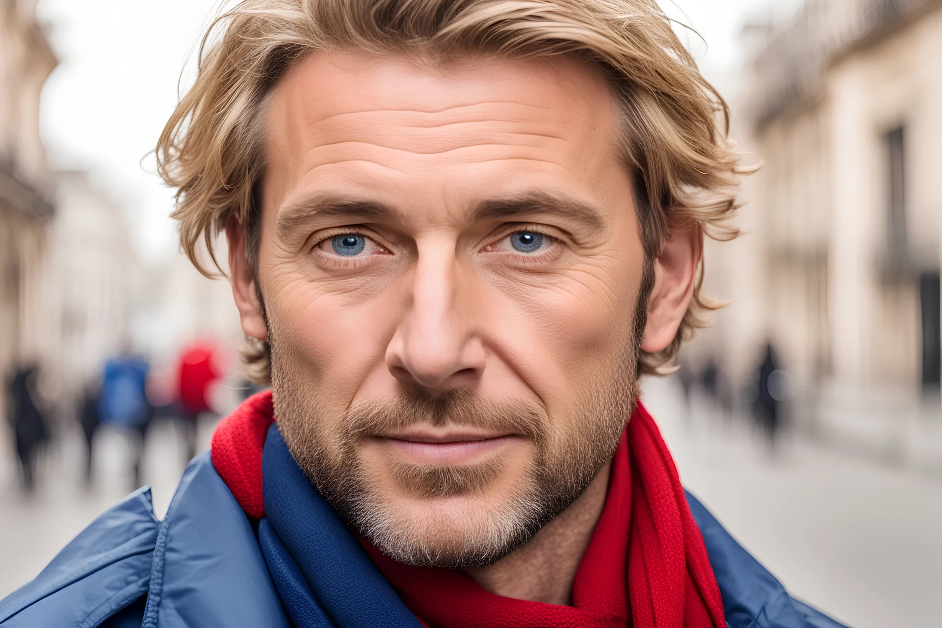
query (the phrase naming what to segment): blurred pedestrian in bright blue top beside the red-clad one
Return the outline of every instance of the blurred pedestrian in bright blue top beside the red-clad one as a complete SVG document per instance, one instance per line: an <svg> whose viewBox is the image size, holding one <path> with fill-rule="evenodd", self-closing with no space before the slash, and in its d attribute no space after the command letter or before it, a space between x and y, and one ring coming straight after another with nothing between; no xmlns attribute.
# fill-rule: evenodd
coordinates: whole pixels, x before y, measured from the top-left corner
<svg viewBox="0 0 942 628"><path fill-rule="evenodd" d="M101 423L122 428L131 439L135 487L140 486L140 461L153 416L146 393L149 372L150 364L137 355L127 353L109 359L105 363L102 395L97 404Z"/></svg>

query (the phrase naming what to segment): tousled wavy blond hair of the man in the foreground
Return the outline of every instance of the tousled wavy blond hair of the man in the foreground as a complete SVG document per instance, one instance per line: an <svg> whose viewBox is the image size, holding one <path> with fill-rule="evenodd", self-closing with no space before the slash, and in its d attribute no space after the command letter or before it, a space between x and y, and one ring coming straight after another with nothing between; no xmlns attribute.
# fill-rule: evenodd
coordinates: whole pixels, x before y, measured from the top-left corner
<svg viewBox="0 0 942 628"><path fill-rule="evenodd" d="M672 230L695 226L715 239L736 237L739 154L728 139L729 110L674 34L655 0L243 0L219 15L203 38L199 72L157 143L158 171L175 187L180 243L203 274L213 241L237 220L254 268L260 231L258 188L266 97L284 72L316 50L358 49L431 61L463 55L577 56L600 68L618 95L621 148L636 187L646 259ZM701 292L670 346L641 352L639 373L668 372L681 344L717 305ZM251 341L250 341L251 342ZM245 352L268 380L269 346Z"/></svg>

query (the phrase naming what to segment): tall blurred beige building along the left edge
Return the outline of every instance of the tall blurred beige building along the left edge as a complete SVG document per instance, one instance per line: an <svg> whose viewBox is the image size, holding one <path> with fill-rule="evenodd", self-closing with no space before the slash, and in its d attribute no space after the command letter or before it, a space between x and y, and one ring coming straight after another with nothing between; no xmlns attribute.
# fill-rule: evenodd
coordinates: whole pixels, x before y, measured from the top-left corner
<svg viewBox="0 0 942 628"><path fill-rule="evenodd" d="M0 0L0 377L38 357L41 330L32 314L44 225L53 214L39 121L42 85L57 59L35 4Z"/></svg>

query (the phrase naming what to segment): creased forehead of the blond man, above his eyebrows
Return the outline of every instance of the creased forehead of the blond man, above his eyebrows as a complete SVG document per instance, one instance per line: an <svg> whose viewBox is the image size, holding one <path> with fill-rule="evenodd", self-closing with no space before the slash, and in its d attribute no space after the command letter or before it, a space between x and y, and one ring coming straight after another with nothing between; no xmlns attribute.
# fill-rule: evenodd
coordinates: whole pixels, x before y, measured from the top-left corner
<svg viewBox="0 0 942 628"><path fill-rule="evenodd" d="M318 51L269 101L266 205L416 188L443 206L519 188L591 196L620 168L614 109L602 73L564 56L430 66Z"/></svg>

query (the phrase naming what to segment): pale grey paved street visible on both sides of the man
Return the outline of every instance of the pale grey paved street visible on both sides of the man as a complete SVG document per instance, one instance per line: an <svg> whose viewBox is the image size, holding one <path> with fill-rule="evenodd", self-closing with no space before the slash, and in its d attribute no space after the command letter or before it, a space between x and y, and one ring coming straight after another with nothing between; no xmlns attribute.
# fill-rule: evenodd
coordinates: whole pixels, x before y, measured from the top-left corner
<svg viewBox="0 0 942 628"><path fill-rule="evenodd" d="M646 382L644 400L685 485L793 594L856 628L939 625L942 479L788 440L770 459L748 429L704 404L688 417L672 379ZM211 429L202 426L203 444ZM126 492L121 435L101 435L90 491L81 487L73 436L44 464L41 490L29 499L16 489L12 461L0 459L0 597ZM152 436L144 478L162 514L183 454L172 425ZM7 438L0 438L3 456Z"/></svg>

